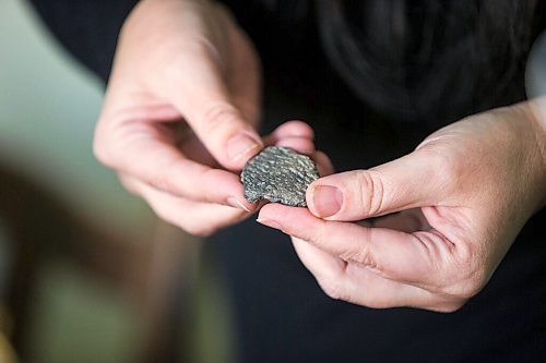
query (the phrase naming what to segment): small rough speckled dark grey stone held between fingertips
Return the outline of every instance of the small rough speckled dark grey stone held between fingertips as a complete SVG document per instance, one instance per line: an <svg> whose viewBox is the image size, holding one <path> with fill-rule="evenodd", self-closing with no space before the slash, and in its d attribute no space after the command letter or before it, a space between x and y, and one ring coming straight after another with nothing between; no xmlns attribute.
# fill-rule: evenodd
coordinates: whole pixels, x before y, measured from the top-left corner
<svg viewBox="0 0 546 363"><path fill-rule="evenodd" d="M307 187L319 179L319 172L308 156L270 146L247 162L240 177L250 203L268 199L306 207Z"/></svg>

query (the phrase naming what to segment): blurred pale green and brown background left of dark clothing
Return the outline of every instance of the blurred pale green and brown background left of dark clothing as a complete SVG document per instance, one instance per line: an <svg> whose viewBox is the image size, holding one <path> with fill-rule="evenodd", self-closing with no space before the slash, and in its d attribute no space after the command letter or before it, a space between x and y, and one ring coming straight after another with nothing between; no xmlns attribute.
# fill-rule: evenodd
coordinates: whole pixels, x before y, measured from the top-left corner
<svg viewBox="0 0 546 363"><path fill-rule="evenodd" d="M201 241L92 154L103 85L22 0L0 0L0 363L229 362Z"/></svg>

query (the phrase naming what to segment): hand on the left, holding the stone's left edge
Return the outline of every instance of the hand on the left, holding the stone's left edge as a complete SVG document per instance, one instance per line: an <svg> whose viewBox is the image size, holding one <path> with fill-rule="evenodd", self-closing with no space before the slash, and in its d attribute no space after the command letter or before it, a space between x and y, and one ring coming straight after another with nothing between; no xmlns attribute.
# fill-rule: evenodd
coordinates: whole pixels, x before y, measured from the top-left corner
<svg viewBox="0 0 546 363"><path fill-rule="evenodd" d="M256 209L237 171L263 146L259 89L252 45L223 7L141 1L119 37L95 154L159 217L210 234Z"/></svg>

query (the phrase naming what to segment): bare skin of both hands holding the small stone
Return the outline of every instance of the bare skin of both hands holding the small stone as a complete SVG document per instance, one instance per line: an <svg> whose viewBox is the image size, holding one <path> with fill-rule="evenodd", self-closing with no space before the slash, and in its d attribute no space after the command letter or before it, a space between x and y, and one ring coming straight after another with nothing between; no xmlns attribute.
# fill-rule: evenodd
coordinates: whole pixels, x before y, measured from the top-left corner
<svg viewBox="0 0 546 363"><path fill-rule="evenodd" d="M545 204L546 126L530 102L449 125L389 164L331 174L305 123L259 137L259 73L224 8L141 1L120 35L95 154L158 216L199 235L258 209L238 172L263 145L311 155L327 177L310 185L309 209L270 204L259 221L292 235L325 293L372 307L456 310ZM373 216L387 217L355 222Z"/></svg>

